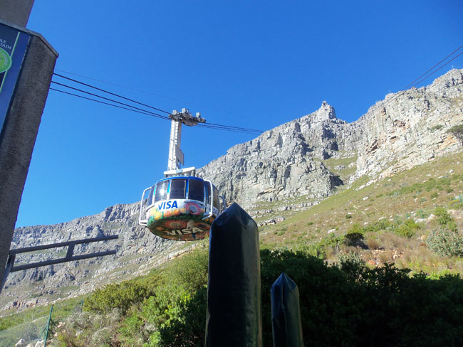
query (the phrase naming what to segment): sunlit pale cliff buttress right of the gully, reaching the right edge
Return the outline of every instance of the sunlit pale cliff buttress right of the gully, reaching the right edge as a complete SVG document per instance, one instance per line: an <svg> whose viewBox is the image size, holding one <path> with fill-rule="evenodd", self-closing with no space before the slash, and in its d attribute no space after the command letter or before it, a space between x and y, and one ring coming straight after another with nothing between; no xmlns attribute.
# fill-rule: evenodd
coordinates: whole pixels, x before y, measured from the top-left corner
<svg viewBox="0 0 463 347"><path fill-rule="evenodd" d="M448 130L463 124L463 70L450 70L432 85L389 94L357 122L357 172L388 176L462 148Z"/></svg>

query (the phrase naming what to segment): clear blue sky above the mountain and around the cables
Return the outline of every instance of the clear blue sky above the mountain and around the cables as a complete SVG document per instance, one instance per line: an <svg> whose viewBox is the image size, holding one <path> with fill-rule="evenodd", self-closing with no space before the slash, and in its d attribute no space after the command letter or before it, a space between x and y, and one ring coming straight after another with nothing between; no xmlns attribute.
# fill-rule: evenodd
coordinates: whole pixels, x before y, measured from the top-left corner
<svg viewBox="0 0 463 347"><path fill-rule="evenodd" d="M60 53L57 70L145 92L79 80L266 130L323 100L355 121L461 46L462 15L461 0L41 0L28 28ZM463 68L463 55L451 65ZM167 169L169 132L165 120L50 91L16 227L139 200ZM185 166L254 137L184 127Z"/></svg>

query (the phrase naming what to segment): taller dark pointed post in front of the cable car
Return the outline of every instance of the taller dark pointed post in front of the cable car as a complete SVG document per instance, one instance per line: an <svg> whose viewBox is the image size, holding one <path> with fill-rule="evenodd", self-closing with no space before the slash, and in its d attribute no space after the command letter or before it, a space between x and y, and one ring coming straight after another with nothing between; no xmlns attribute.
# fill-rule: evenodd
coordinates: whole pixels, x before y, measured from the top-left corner
<svg viewBox="0 0 463 347"><path fill-rule="evenodd" d="M259 230L237 203L212 223L208 282L205 346L261 347Z"/></svg>

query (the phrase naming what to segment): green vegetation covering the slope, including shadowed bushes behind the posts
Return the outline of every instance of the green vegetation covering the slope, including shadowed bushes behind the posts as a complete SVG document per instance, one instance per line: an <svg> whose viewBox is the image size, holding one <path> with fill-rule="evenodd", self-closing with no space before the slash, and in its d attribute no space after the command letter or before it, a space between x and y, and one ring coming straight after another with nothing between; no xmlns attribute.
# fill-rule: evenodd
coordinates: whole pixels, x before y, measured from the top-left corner
<svg viewBox="0 0 463 347"><path fill-rule="evenodd" d="M285 218L259 228L264 346L269 288L283 271L298 284L310 344L462 345L462 163L453 154L382 181L362 177L308 210L285 207L313 197L257 204L269 211L259 220ZM93 292L52 346L202 346L206 285L207 242L199 242L149 276ZM27 321L11 317L0 327Z"/></svg>

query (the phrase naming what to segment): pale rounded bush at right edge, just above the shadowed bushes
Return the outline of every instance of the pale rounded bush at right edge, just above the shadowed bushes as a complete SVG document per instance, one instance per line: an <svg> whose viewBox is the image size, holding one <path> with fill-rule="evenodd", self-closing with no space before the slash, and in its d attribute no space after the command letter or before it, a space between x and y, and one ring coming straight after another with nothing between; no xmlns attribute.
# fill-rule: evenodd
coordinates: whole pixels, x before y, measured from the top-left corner
<svg viewBox="0 0 463 347"><path fill-rule="evenodd" d="M426 239L426 243L432 252L442 257L463 256L463 235L458 233L457 230L447 228L432 230Z"/></svg>

